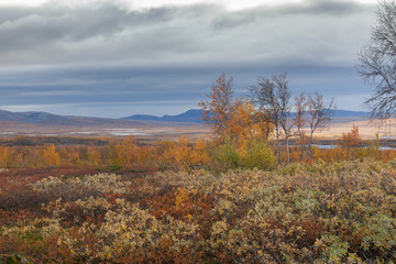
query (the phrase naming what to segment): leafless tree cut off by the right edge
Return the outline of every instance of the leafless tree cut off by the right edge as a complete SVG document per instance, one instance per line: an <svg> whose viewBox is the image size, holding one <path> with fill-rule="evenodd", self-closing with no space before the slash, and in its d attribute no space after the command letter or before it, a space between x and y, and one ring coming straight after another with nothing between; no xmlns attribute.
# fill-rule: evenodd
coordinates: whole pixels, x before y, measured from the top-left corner
<svg viewBox="0 0 396 264"><path fill-rule="evenodd" d="M372 120L396 117L396 1L380 1L371 41L360 54L360 75L375 87L364 105Z"/></svg>

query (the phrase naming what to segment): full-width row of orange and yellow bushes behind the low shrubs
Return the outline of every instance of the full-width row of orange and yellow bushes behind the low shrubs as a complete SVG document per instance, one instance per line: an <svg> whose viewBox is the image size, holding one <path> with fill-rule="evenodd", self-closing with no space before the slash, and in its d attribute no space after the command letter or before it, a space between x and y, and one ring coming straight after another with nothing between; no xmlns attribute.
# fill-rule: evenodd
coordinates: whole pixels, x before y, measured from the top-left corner
<svg viewBox="0 0 396 264"><path fill-rule="evenodd" d="M338 145L330 148L311 146L310 157L301 146L289 147L292 163L312 164L371 157L387 162L396 157L395 150L380 150L378 141L363 145L359 128L344 133ZM282 153L286 160L286 152ZM161 141L142 145L134 136L113 140L106 145L0 146L0 167L150 167L191 172L207 168L213 172L244 167L272 169L278 164L267 142L245 140L224 142L196 140L182 136L176 142Z"/></svg>

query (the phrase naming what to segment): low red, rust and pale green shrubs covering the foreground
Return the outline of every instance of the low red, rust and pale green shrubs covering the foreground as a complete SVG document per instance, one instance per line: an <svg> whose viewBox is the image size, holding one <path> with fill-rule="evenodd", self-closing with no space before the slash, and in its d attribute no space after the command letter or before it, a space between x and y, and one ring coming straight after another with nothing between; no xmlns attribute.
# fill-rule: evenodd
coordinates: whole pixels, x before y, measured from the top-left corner
<svg viewBox="0 0 396 264"><path fill-rule="evenodd" d="M394 162L28 172L0 173L2 263L396 261Z"/></svg>

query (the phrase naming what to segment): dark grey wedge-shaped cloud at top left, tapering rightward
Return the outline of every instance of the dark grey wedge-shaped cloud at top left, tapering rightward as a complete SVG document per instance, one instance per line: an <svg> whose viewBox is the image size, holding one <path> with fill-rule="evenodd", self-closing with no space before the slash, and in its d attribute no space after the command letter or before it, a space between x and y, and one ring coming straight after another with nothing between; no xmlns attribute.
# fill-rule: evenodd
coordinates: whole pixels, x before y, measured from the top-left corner
<svg viewBox="0 0 396 264"><path fill-rule="evenodd" d="M18 11L18 9L15 9ZM1 9L1 51L36 48L54 42L81 42L100 36L105 40L129 28L160 23L170 19L166 9L129 12L111 2L81 9L41 7L11 12Z"/></svg>

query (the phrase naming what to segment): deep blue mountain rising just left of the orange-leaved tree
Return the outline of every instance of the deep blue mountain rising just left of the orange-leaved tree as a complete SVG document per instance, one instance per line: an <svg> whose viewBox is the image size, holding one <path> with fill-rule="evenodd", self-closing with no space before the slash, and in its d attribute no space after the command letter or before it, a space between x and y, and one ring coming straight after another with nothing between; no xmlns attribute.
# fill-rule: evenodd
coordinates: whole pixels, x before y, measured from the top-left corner
<svg viewBox="0 0 396 264"><path fill-rule="evenodd" d="M186 123L202 123L202 111L199 109L190 109L184 113L176 116L165 114L163 117L155 117L150 114L134 114L125 120L136 120L136 121L163 121L163 122L186 122Z"/></svg>

